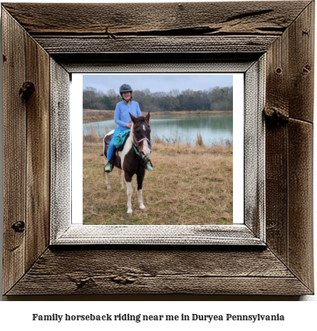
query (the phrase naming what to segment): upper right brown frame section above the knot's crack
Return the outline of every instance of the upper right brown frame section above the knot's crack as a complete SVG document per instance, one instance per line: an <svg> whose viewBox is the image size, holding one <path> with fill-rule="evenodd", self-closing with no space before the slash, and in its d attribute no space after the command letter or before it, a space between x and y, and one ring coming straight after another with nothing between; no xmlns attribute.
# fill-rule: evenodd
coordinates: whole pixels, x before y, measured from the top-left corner
<svg viewBox="0 0 317 331"><path fill-rule="evenodd" d="M313 122L314 3L268 52L266 112Z"/></svg>

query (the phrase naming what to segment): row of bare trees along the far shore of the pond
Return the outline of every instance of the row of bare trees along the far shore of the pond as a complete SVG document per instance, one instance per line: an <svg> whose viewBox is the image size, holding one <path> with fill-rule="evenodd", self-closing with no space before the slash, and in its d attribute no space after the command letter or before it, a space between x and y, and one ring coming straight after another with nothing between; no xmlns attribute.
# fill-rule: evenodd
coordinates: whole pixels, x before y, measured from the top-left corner
<svg viewBox="0 0 317 331"><path fill-rule="evenodd" d="M233 86L209 88L209 90L171 90L151 93L135 90L132 97L139 103L142 112L165 112L180 110L233 110ZM115 110L122 100L115 90L104 93L93 87L83 90L83 109Z"/></svg>

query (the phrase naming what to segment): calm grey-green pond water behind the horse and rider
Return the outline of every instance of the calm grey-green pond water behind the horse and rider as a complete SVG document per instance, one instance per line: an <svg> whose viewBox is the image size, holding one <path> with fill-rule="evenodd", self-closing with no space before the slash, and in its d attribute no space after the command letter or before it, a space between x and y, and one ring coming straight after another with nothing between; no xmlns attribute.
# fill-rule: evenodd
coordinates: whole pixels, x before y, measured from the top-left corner
<svg viewBox="0 0 317 331"><path fill-rule="evenodd" d="M97 135L105 134L105 126L109 130L115 129L114 120L91 122L83 124L84 135L89 135L90 125ZM233 117L232 115L191 116L191 117L152 117L150 119L151 138L158 137L167 142L197 141L197 132L202 135L206 145L232 144Z"/></svg>

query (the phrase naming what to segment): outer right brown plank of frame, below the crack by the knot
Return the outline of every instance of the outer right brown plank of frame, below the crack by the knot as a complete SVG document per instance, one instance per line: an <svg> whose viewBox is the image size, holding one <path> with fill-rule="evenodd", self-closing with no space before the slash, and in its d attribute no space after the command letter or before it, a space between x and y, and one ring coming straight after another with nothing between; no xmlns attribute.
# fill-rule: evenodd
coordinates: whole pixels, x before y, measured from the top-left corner
<svg viewBox="0 0 317 331"><path fill-rule="evenodd" d="M289 121L289 266L313 289L313 125Z"/></svg>

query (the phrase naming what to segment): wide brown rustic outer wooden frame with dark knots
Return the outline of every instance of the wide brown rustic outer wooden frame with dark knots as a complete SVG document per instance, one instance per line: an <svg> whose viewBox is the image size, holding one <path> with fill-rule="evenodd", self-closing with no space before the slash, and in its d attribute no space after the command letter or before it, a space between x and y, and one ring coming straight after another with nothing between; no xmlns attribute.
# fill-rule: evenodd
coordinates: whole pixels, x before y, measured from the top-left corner
<svg viewBox="0 0 317 331"><path fill-rule="evenodd" d="M313 293L313 1L1 9L5 295ZM252 228L264 246L50 245L51 110L68 120L53 76L264 55L266 222Z"/></svg>

